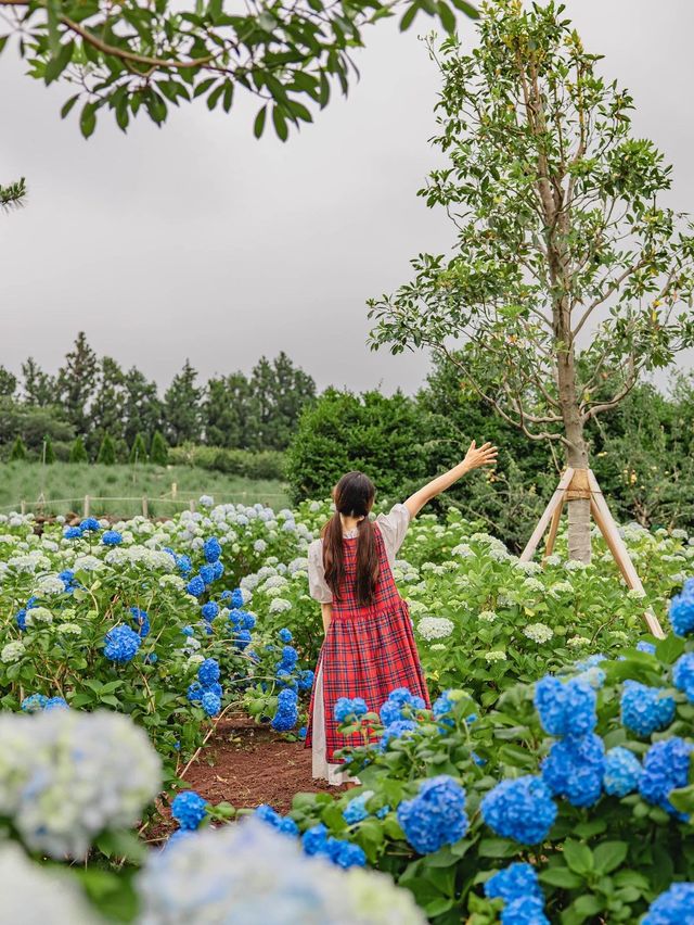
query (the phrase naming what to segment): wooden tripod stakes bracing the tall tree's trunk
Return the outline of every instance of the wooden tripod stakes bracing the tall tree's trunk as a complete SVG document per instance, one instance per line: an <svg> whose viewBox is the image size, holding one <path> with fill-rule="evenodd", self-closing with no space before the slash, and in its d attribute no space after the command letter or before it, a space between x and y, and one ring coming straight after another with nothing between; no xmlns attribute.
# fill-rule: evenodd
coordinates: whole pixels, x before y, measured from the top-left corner
<svg viewBox="0 0 694 925"><path fill-rule="evenodd" d="M520 561L530 561L548 527L550 528L550 532L547 537L542 560L544 561L548 556L552 555L556 533L560 529L564 502L573 498L590 499L590 512L597 524L600 532L603 534L605 543L607 543L609 552L617 563L617 568L621 572L624 580L627 582L627 586L645 594L643 585L641 584L641 579L637 574L633 562L629 557L629 552L627 550L624 540L619 535L617 524L615 523L609 507L607 506L607 502L600 490L597 479L593 474L592 469L568 468L564 472L558 485L556 486L556 491L544 509L544 514L540 518L538 525L535 528L532 536L528 540L528 544L520 555ZM665 633L663 632L658 618L655 616L653 610L648 608L643 616L648 631L657 639L664 639Z"/></svg>

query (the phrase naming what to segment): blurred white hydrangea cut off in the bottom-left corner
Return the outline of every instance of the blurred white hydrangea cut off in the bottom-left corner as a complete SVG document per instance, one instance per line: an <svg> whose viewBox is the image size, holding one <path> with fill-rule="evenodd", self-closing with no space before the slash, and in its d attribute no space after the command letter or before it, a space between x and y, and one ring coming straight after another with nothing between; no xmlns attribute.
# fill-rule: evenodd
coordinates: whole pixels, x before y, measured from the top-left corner
<svg viewBox="0 0 694 925"><path fill-rule="evenodd" d="M30 861L18 846L0 848L2 917L22 925L99 925L103 920L86 901L67 871Z"/></svg>

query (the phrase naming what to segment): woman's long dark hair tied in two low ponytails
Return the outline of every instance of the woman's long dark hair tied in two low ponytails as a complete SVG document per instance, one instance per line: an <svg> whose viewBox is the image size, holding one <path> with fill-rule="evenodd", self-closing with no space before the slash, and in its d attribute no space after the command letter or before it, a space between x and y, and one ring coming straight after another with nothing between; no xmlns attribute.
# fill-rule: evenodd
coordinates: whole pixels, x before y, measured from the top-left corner
<svg viewBox="0 0 694 925"><path fill-rule="evenodd" d="M339 585L345 579L345 556L343 546L343 523L339 515L361 517L357 538L357 576L355 594L358 604L368 607L373 603L378 581L378 550L373 523L369 512L373 506L376 490L373 482L363 472L347 472L333 490L335 514L323 528L323 568L325 583L339 596Z"/></svg>

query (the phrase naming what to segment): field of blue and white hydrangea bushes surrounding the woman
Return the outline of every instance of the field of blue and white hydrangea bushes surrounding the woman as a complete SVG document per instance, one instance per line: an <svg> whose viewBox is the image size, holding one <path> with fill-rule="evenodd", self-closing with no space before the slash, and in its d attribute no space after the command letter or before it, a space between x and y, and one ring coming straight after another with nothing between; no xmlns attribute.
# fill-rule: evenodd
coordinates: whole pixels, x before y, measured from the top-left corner
<svg viewBox="0 0 694 925"><path fill-rule="evenodd" d="M694 542L680 531L624 529L643 599L597 537L592 565L567 562L560 536L542 567L455 511L421 517L396 580L433 710L404 688L377 712L342 700L359 786L297 794L285 815L187 787L222 718L303 747L322 639L306 553L327 515L202 498L160 523L0 518L8 916L692 921ZM646 606L669 633L657 644ZM163 816L178 827L162 848Z"/></svg>

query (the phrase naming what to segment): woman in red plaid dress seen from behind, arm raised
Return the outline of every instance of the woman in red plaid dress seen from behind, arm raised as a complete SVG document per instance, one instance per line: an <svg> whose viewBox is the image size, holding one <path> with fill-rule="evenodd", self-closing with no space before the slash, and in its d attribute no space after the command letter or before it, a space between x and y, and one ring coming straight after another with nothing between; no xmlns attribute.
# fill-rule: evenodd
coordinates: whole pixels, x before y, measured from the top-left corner
<svg viewBox="0 0 694 925"><path fill-rule="evenodd" d="M308 557L309 588L321 604L325 630L306 736L314 777L345 783L334 752L361 742L358 734L337 732L333 711L339 697L362 697L376 711L390 690L408 687L429 706L408 606L393 579L395 557L410 520L427 502L496 458L496 446L478 448L473 441L462 463L375 520L369 517L375 489L367 476L348 472L335 486L335 514Z"/></svg>

